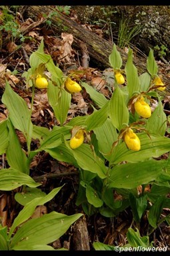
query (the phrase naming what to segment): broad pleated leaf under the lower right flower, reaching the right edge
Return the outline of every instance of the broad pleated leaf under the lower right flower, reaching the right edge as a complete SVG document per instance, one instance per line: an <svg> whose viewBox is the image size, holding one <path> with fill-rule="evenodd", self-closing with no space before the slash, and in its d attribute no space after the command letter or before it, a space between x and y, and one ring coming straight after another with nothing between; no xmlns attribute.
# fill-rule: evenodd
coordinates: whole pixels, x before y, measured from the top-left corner
<svg viewBox="0 0 170 256"><path fill-rule="evenodd" d="M149 134L151 138L145 133L138 133L137 136L141 140L141 150L129 150L125 144L115 146L111 162L118 163L121 161L139 162L147 160L151 157L159 157L170 150L170 139L165 136Z"/></svg>

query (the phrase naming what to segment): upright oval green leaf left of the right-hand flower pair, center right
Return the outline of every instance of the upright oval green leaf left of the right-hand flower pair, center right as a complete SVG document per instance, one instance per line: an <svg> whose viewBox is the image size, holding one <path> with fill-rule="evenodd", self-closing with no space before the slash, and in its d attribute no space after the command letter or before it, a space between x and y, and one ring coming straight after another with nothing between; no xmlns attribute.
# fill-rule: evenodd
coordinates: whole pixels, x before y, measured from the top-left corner
<svg viewBox="0 0 170 256"><path fill-rule="evenodd" d="M129 110L125 104L125 96L122 90L117 86L109 101L109 117L113 126L121 130L123 124L129 122Z"/></svg>

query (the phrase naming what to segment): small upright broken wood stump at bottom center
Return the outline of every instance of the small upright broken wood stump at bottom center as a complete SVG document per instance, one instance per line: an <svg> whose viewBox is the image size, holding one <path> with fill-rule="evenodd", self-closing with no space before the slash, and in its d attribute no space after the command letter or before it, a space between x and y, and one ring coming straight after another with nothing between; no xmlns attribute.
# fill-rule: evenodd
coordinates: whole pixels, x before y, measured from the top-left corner
<svg viewBox="0 0 170 256"><path fill-rule="evenodd" d="M73 225L72 247L74 251L89 251L89 233L85 215Z"/></svg>

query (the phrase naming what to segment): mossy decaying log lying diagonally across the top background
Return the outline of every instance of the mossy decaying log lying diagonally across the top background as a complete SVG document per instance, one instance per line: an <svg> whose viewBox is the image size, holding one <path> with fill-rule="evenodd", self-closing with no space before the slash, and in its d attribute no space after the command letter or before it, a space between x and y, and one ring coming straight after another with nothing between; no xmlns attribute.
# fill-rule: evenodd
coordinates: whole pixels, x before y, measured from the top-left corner
<svg viewBox="0 0 170 256"><path fill-rule="evenodd" d="M54 9L50 5L30 5L27 8L27 17L36 20L39 19L39 17L42 17L43 13L49 15L53 12ZM73 46L77 49L81 49L79 40L83 41L87 45L87 51L89 52L91 61L93 61L96 66L102 66L103 68L110 67L109 55L113 49L111 42L99 37L99 35L96 35L93 31L85 29L82 25L62 13L57 13L57 15L51 17L51 27L55 32L55 35L61 35L63 32L73 34ZM119 51L121 52L123 63L125 63L127 60L127 53L121 49L119 49ZM146 70L145 61L146 59L144 61L138 61L136 57L133 59L135 66L143 72Z"/></svg>

